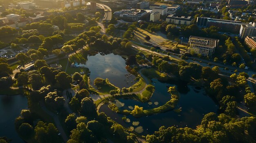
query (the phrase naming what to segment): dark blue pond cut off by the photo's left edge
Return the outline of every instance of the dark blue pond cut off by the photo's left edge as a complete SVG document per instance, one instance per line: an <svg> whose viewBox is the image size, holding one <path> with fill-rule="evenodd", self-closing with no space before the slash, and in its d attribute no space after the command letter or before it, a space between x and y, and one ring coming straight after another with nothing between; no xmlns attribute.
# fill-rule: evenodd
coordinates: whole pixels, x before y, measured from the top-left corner
<svg viewBox="0 0 256 143"><path fill-rule="evenodd" d="M0 95L0 136L11 139L11 143L25 143L16 132L14 121L27 106L23 95Z"/></svg>

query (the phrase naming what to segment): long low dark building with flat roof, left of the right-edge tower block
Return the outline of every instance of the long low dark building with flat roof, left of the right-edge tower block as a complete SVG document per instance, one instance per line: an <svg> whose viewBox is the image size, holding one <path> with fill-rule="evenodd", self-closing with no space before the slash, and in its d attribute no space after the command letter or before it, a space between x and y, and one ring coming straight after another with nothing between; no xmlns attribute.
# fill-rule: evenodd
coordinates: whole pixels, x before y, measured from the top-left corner
<svg viewBox="0 0 256 143"><path fill-rule="evenodd" d="M222 19L215 19L215 18L198 17L196 20L196 24L197 26L200 26L200 27L216 26L221 31L239 33L241 24L243 23L240 21L234 21L234 20L222 20Z"/></svg>

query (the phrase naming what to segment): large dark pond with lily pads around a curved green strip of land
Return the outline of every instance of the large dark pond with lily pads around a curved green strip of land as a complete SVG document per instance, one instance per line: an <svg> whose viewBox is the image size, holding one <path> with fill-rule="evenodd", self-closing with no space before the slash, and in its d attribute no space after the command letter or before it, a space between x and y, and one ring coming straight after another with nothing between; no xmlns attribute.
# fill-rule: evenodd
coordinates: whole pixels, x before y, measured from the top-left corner
<svg viewBox="0 0 256 143"><path fill-rule="evenodd" d="M217 112L218 110L216 103L210 97L204 95L204 89L195 88L194 86L187 86L174 81L168 82L168 84L162 83L157 79L153 79L153 84L156 90L150 99L151 103L141 103L133 99L118 99L115 100L114 103L118 102L120 104L121 102L121 104L124 105L120 108L122 110L132 110L131 107L134 107L135 105L143 107L144 109L156 108L162 106L164 103L166 103L166 101L170 100L171 96L167 92L168 87L176 86L177 90L180 92L180 99L175 108L182 108L182 111L177 113L174 110L171 110L165 113L140 118L135 118L132 115L128 115L127 118L130 119L130 123L122 120L122 117L124 117L123 114L117 114L116 112L110 110L110 108L108 108L108 104L101 106L99 112L105 112L108 117L117 121L117 123L126 128L129 128L130 126L133 126L134 128L142 126L144 132L141 134L146 135L153 134L161 126L170 127L175 125L182 128L186 126L195 128L201 123L204 114L209 112ZM133 121L139 121L139 125L132 125Z"/></svg>

